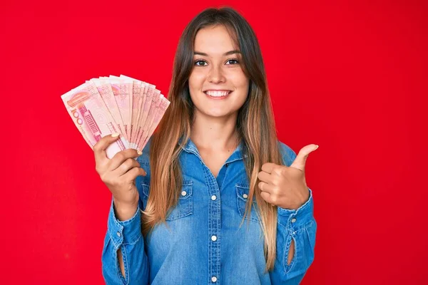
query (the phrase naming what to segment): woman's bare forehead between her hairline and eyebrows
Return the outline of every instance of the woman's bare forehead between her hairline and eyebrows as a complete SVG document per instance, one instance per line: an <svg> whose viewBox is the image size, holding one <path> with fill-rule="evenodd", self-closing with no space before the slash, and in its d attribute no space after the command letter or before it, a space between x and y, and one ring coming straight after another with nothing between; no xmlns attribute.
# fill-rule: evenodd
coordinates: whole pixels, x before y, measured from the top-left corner
<svg viewBox="0 0 428 285"><path fill-rule="evenodd" d="M233 49L235 49L233 38L223 25L201 28L196 33L195 51L216 55Z"/></svg>

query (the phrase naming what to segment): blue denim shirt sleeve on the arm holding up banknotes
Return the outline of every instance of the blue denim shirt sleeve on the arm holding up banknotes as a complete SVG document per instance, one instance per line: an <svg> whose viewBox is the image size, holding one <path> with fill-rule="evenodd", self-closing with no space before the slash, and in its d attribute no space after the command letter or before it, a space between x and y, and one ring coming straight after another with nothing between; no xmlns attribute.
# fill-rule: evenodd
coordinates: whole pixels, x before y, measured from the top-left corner
<svg viewBox="0 0 428 285"><path fill-rule="evenodd" d="M144 251L144 238L141 234L141 207L126 221L119 221L114 212L113 197L108 214L107 232L101 257L103 278L106 284L148 284L148 259ZM125 278L118 261L121 249Z"/></svg>

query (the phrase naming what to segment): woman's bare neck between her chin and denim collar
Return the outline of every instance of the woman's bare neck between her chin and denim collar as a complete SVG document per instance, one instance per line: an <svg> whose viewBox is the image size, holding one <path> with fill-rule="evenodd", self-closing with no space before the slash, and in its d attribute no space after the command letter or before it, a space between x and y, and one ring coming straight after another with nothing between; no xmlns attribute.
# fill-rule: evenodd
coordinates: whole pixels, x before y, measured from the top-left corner
<svg viewBox="0 0 428 285"><path fill-rule="evenodd" d="M236 120L238 113L222 118L213 118L195 110L190 139L198 149L234 150L238 146Z"/></svg>

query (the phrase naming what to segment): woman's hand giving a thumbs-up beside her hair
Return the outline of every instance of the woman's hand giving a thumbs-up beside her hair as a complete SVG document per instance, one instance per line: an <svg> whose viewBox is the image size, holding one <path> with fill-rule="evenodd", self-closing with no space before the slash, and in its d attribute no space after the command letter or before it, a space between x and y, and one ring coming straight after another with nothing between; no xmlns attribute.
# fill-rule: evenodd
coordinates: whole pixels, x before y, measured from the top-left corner
<svg viewBox="0 0 428 285"><path fill-rule="evenodd" d="M317 145L302 147L290 167L267 162L258 173L261 197L268 203L283 209L298 209L309 199L306 185L305 164L307 156Z"/></svg>

